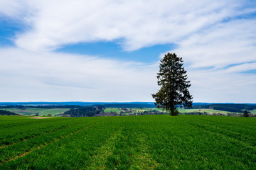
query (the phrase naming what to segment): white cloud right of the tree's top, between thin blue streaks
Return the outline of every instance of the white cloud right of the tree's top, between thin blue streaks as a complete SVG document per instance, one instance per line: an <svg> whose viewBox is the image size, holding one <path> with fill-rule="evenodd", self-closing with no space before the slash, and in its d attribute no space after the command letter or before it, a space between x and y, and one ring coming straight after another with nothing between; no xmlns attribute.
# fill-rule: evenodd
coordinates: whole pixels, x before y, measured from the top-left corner
<svg viewBox="0 0 256 170"><path fill-rule="evenodd" d="M182 40L177 52L193 68L256 62L255 26L256 20L250 19L218 23Z"/></svg>

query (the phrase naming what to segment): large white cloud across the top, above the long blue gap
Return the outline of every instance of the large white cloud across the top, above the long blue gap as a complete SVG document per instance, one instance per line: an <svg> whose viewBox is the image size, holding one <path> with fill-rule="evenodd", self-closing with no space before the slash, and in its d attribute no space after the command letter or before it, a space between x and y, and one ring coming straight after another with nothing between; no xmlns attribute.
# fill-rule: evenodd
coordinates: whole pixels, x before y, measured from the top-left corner
<svg viewBox="0 0 256 170"><path fill-rule="evenodd" d="M236 14L233 1L23 1L2 11L20 16L31 30L16 45L50 50L60 45L123 39L126 50L176 42ZM23 7L25 6L25 7ZM14 12L21 11L21 12ZM32 14L31 14L32 13ZM240 12L241 13L241 12Z"/></svg>

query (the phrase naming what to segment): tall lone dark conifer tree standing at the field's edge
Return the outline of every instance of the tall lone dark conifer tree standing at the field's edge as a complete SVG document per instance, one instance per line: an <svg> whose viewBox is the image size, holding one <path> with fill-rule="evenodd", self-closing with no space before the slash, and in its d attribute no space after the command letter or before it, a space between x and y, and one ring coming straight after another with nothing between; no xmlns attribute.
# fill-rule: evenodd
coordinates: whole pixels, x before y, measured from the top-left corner
<svg viewBox="0 0 256 170"><path fill-rule="evenodd" d="M189 94L186 70L183 68L183 60L176 54L167 53L160 60L160 69L157 73L157 84L161 86L156 94L152 94L157 108L163 108L170 115L178 115L177 106L191 107L192 95Z"/></svg>

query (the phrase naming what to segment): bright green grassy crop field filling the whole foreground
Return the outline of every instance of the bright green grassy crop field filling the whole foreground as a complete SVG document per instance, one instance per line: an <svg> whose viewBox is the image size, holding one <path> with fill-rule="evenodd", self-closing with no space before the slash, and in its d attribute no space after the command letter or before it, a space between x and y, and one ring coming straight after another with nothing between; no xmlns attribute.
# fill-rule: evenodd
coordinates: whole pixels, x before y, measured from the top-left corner
<svg viewBox="0 0 256 170"><path fill-rule="evenodd" d="M256 169L256 119L0 116L0 169Z"/></svg>

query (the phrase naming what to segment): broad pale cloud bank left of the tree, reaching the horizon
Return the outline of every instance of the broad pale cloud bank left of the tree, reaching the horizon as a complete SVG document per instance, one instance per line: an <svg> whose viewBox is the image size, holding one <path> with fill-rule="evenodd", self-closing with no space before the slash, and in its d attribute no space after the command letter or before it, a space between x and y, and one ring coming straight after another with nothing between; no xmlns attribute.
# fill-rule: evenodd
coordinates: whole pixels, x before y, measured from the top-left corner
<svg viewBox="0 0 256 170"><path fill-rule="evenodd" d="M156 66L15 48L0 60L0 101L148 101L157 90Z"/></svg>

